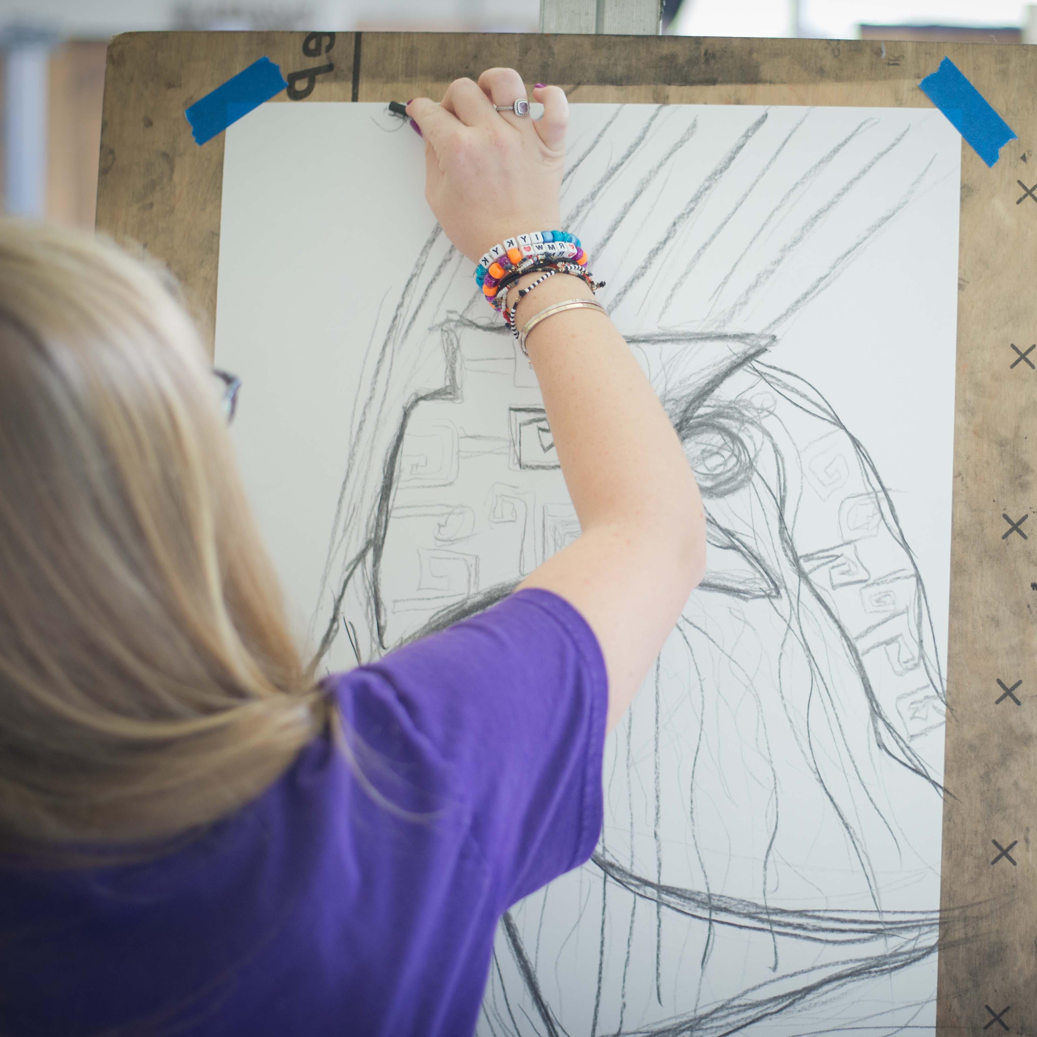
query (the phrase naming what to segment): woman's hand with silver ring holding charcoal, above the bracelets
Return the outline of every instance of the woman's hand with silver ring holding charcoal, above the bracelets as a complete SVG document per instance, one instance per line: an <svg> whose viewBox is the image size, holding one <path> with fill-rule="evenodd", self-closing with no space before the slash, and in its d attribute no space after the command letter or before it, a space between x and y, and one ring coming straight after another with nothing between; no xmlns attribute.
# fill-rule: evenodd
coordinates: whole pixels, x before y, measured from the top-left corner
<svg viewBox="0 0 1037 1037"><path fill-rule="evenodd" d="M437 105L407 106L425 139L425 198L454 246L473 262L515 234L560 227L558 193L569 108L558 86L534 87L543 117L498 112L527 96L513 68L454 80Z"/></svg>

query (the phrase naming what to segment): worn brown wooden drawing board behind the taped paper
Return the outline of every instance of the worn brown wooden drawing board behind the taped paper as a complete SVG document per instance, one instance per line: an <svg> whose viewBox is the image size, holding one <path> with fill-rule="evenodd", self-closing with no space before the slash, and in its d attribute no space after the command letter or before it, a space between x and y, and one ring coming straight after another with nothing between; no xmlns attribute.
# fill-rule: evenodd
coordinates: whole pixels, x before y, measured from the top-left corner
<svg viewBox="0 0 1037 1037"><path fill-rule="evenodd" d="M302 102L439 97L457 77L510 65L530 84L562 84L573 102L878 107L928 107L918 83L948 56L1015 131L991 169L962 142L942 900L945 908L988 902L989 912L970 938L941 948L937 1030L1037 1033L1037 521L1022 524L1037 514L1037 349L1026 355L1037 341L1037 199L1029 193L1037 184L1037 49L461 33L118 36L108 54L97 227L167 263L209 336L223 138L195 144L184 109L264 55L306 94ZM282 93L273 103L293 102ZM309 161L298 157L301 191ZM868 358L847 358L854 362Z"/></svg>

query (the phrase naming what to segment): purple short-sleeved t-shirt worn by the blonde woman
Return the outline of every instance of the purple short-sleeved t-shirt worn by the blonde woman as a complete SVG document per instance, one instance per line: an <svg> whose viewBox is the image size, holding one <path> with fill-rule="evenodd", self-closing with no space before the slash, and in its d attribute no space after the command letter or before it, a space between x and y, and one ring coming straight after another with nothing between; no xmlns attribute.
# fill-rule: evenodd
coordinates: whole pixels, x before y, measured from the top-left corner
<svg viewBox="0 0 1037 1037"><path fill-rule="evenodd" d="M158 860L0 870L0 1033L472 1033L501 914L600 832L597 641L520 591L329 694L352 764L315 739Z"/></svg>

